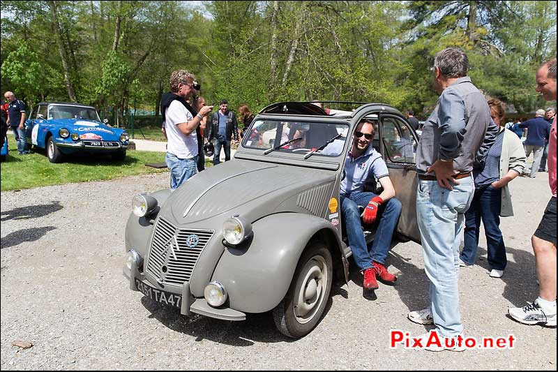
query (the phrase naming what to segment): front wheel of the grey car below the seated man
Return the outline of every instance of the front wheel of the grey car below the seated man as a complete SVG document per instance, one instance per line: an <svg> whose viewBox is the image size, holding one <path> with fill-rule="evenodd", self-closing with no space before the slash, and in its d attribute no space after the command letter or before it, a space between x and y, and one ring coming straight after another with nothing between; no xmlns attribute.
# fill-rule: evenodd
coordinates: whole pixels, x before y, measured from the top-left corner
<svg viewBox="0 0 558 372"><path fill-rule="evenodd" d="M331 253L322 241L306 247L280 304L273 309L279 332L298 338L306 336L322 318L333 276Z"/></svg>

